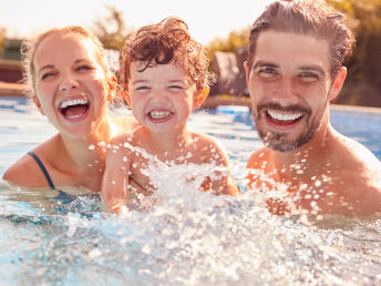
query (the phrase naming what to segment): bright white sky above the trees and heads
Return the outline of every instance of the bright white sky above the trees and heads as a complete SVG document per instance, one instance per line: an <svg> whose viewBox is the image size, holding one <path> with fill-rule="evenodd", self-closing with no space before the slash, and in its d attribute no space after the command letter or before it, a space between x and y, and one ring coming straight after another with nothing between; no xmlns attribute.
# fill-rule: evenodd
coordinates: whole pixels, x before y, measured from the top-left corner
<svg viewBox="0 0 381 286"><path fill-rule="evenodd" d="M271 0L0 0L0 28L9 37L30 37L56 25L92 28L107 16L106 6L124 13L127 27L140 28L169 16L181 17L203 44L254 22Z"/></svg>

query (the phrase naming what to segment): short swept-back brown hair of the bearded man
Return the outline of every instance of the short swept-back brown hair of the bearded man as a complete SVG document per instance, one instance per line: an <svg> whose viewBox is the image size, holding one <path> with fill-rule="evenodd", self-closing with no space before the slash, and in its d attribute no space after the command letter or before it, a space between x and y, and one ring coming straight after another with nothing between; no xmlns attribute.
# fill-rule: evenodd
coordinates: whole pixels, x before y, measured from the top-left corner
<svg viewBox="0 0 381 286"><path fill-rule="evenodd" d="M346 17L322 0L279 0L269 4L254 22L249 37L248 67L253 67L258 37L264 31L309 34L329 42L330 76L333 80L351 55L354 37Z"/></svg>

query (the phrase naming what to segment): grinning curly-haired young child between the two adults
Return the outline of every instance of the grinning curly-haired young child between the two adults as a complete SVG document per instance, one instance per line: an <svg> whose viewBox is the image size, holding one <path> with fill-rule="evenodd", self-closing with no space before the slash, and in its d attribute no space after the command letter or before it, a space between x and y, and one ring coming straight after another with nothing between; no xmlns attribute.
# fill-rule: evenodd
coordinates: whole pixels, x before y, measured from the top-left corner
<svg viewBox="0 0 381 286"><path fill-rule="evenodd" d="M128 190L152 194L157 188L144 172L153 160L169 167L213 165L210 174L203 174L199 190L233 196L239 193L222 147L186 124L192 110L204 103L209 78L206 52L181 19L143 27L126 42L121 92L141 126L114 137L109 145L102 184L106 207L119 212L128 201Z"/></svg>

